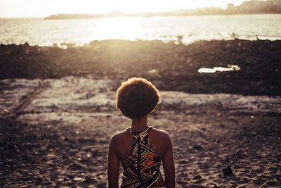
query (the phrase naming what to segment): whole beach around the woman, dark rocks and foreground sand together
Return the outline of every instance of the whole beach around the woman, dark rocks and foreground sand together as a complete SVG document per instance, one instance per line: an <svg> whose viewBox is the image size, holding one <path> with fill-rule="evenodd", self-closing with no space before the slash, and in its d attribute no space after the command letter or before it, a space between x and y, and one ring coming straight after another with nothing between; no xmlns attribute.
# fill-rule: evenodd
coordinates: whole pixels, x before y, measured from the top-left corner
<svg viewBox="0 0 281 188"><path fill-rule="evenodd" d="M149 124L171 135L176 187L281 186L280 41L0 51L1 187L107 187L107 144L131 125L115 92L132 76L160 90Z"/></svg>

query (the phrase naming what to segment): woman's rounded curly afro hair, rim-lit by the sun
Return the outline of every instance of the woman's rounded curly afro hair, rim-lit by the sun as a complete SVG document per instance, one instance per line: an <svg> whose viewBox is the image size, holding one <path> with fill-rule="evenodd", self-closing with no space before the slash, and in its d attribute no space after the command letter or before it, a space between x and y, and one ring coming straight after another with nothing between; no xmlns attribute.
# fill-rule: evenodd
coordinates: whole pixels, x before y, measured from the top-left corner
<svg viewBox="0 0 281 188"><path fill-rule="evenodd" d="M139 119L155 111L159 101L156 87L141 77L132 77L117 90L116 107L130 119Z"/></svg>

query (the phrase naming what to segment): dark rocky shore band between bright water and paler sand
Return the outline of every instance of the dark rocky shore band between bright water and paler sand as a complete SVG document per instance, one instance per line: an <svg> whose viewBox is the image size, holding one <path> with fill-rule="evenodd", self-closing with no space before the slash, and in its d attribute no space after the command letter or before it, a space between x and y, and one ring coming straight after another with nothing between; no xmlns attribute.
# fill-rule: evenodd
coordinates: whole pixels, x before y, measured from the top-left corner
<svg viewBox="0 0 281 188"><path fill-rule="evenodd" d="M65 48L0 45L0 79L60 78L67 75L111 79L139 76L161 90L244 95L281 94L281 41L195 42L93 41ZM199 73L200 68L239 69Z"/></svg>

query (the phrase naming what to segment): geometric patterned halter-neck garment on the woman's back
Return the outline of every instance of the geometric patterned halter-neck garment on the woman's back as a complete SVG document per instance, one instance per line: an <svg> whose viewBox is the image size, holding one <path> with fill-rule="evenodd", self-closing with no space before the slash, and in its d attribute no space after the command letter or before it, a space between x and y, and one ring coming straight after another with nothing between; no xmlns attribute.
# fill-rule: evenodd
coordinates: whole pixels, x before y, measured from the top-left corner
<svg viewBox="0 0 281 188"><path fill-rule="evenodd" d="M149 127L144 132L133 132L129 156L122 162L124 169L121 187L166 187L160 173L161 159L153 151L148 137Z"/></svg>

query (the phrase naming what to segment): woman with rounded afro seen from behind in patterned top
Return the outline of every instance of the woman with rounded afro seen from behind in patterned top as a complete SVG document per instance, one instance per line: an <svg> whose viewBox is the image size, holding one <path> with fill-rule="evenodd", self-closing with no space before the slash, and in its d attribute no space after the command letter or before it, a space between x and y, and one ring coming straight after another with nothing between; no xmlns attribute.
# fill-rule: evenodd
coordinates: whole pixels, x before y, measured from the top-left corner
<svg viewBox="0 0 281 188"><path fill-rule="evenodd" d="M148 114L155 111L159 92L151 82L133 77L117 90L116 106L131 128L110 139L107 158L108 186L118 187L119 161L124 173L121 187L175 187L175 166L171 138L164 130L148 126ZM164 168L160 173L161 161Z"/></svg>

